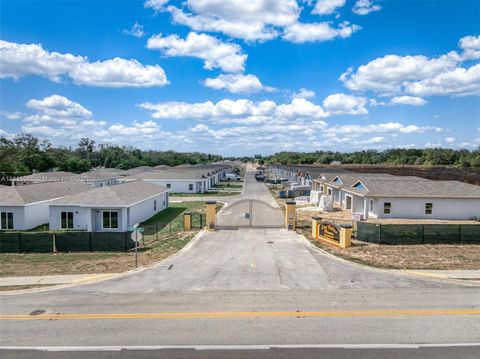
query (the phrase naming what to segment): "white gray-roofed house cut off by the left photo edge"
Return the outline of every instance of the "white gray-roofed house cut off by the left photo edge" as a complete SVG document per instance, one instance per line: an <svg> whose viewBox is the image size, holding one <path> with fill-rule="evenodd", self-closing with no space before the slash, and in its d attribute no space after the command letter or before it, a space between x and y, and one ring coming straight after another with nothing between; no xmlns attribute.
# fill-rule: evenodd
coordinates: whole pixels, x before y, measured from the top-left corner
<svg viewBox="0 0 480 359"><path fill-rule="evenodd" d="M27 230L48 223L49 204L64 196L78 194L92 187L83 182L42 182L25 186L0 187L2 230Z"/></svg>

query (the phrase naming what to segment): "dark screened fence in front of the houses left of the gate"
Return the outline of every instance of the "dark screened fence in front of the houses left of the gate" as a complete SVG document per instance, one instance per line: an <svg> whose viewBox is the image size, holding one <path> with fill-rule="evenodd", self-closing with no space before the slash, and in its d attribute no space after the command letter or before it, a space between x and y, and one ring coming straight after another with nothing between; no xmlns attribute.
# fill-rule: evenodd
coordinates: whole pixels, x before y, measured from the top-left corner
<svg viewBox="0 0 480 359"><path fill-rule="evenodd" d="M125 252L130 232L1 232L0 253Z"/></svg>

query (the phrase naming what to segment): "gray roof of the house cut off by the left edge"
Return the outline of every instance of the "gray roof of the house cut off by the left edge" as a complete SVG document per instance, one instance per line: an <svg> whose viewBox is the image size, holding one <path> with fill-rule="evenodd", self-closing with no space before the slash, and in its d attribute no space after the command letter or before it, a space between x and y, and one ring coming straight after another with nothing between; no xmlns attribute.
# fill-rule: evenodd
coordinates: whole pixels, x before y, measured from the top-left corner
<svg viewBox="0 0 480 359"><path fill-rule="evenodd" d="M92 187L82 182L45 182L24 186L5 186L0 188L0 205L23 206L30 203L48 201L63 196L82 193Z"/></svg>

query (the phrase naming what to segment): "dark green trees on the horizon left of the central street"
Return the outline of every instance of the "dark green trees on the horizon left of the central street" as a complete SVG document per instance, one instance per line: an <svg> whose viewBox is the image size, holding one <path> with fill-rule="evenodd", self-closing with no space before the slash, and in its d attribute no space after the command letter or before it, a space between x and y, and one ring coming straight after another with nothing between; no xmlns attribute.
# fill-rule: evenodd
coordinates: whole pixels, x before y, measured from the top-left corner
<svg viewBox="0 0 480 359"><path fill-rule="evenodd" d="M99 144L83 138L77 148L54 147L47 140L21 134L0 137L0 172L30 173L57 169L85 172L93 167L129 169L138 166L197 164L222 160L222 156L198 152L142 151L127 146Z"/></svg>

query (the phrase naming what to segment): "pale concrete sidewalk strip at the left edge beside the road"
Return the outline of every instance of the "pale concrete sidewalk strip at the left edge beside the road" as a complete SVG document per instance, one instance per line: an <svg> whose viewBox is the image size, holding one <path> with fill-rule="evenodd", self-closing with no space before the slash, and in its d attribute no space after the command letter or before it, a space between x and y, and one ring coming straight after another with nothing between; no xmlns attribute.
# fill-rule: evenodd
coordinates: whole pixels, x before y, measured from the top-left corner
<svg viewBox="0 0 480 359"><path fill-rule="evenodd" d="M0 287L23 286L23 285L59 285L80 284L108 278L117 273L102 274L69 274L69 275L45 275L31 277L4 277L0 278Z"/></svg>

